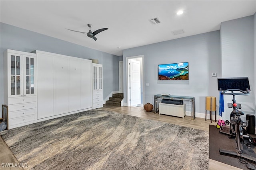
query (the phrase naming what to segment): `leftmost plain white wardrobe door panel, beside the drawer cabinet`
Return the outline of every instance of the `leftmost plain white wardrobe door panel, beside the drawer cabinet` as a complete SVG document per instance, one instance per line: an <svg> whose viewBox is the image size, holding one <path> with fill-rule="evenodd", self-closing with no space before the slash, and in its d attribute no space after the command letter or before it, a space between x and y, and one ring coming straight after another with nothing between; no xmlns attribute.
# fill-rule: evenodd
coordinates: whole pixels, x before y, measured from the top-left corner
<svg viewBox="0 0 256 170"><path fill-rule="evenodd" d="M53 57L37 54L38 119L53 116Z"/></svg>

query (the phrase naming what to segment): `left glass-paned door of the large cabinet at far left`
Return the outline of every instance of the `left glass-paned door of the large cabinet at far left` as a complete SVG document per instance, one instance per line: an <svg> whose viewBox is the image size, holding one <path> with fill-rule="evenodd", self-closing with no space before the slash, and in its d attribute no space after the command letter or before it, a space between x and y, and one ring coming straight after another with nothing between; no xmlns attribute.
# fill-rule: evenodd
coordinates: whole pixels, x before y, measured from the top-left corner
<svg viewBox="0 0 256 170"><path fill-rule="evenodd" d="M22 96L22 55L10 54L10 97Z"/></svg>

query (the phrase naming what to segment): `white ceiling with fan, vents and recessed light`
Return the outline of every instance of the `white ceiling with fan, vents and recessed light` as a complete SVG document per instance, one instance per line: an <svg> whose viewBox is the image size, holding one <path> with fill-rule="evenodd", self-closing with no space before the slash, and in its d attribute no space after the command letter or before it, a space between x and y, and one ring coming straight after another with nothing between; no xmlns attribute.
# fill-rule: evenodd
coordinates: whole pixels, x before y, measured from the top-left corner
<svg viewBox="0 0 256 170"><path fill-rule="evenodd" d="M256 0L1 0L0 7L3 23L120 56L123 49L219 30L223 21L254 15ZM152 25L156 17L160 23ZM94 41L66 29L88 32L88 23L92 31L108 30ZM178 29L185 33L174 35Z"/></svg>

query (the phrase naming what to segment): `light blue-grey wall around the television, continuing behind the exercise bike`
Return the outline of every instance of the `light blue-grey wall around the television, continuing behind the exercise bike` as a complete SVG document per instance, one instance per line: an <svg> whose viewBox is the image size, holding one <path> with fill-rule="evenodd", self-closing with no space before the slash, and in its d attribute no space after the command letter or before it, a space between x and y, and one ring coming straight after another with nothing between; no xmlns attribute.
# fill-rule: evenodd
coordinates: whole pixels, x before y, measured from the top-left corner
<svg viewBox="0 0 256 170"><path fill-rule="evenodd" d="M256 14L236 20L225 21L220 31L203 33L190 37L164 41L123 51L124 72L126 58L144 55L145 101L153 103L154 94L168 93L195 97L195 111L205 113L205 96L216 96L217 115L219 110L219 91L217 77L249 77L250 96L238 96L243 111L255 114L255 75L256 70ZM189 62L189 80L159 81L158 64ZM217 73L217 77L212 77ZM124 89L126 75L124 74ZM232 97L232 96L231 96ZM224 96L225 105L232 102ZM127 103L124 92L124 103ZM188 111L188 108L187 108ZM225 108L222 119L229 120L230 109Z"/></svg>

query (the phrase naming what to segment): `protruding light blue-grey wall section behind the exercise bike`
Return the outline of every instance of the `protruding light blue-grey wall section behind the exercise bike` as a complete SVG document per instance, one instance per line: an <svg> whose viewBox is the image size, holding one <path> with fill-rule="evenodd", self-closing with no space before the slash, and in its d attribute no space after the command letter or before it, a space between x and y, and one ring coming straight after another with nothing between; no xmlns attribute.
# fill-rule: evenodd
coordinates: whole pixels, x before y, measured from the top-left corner
<svg viewBox="0 0 256 170"><path fill-rule="evenodd" d="M248 77L250 82L249 96L236 96L236 102L242 104L242 111L255 114L254 96L254 16L238 18L221 23L221 63L222 77ZM223 119L229 120L232 109L232 95L224 95L225 112ZM244 120L246 119L243 116Z"/></svg>

